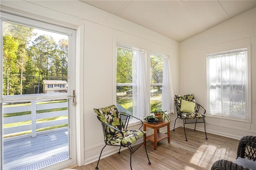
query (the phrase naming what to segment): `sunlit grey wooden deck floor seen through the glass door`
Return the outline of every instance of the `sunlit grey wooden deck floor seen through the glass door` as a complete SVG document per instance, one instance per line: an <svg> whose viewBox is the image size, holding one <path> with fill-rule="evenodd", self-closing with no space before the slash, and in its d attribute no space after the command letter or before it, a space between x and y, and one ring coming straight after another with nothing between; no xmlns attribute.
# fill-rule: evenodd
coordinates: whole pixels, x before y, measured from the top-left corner
<svg viewBox="0 0 256 170"><path fill-rule="evenodd" d="M39 169L67 160L68 130L4 142L4 170Z"/></svg>

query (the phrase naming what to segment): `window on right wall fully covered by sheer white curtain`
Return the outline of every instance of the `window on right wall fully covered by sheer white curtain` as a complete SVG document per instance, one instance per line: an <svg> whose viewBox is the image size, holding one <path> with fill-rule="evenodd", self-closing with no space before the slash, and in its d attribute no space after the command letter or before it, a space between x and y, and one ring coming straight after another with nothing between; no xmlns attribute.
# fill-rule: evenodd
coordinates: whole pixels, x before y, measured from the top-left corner
<svg viewBox="0 0 256 170"><path fill-rule="evenodd" d="M207 113L249 119L246 48L207 55Z"/></svg>

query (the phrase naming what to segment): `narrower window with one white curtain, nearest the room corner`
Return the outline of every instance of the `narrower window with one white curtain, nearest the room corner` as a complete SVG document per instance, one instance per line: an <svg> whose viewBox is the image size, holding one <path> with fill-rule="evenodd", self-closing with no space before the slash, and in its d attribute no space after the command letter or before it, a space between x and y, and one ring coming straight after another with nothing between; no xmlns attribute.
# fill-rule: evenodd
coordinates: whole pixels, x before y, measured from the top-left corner
<svg viewBox="0 0 256 170"><path fill-rule="evenodd" d="M168 56L150 55L150 111L174 113L173 88L170 78Z"/></svg>

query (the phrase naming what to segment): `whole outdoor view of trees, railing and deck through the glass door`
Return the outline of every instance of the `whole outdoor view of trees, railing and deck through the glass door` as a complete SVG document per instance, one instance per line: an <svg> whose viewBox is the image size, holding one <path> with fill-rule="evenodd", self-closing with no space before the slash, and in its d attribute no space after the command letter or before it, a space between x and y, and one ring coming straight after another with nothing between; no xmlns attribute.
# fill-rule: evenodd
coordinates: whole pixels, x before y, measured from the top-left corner
<svg viewBox="0 0 256 170"><path fill-rule="evenodd" d="M3 168L69 159L68 99L56 97L68 92L68 36L6 21L2 29ZM22 100L44 93L55 98Z"/></svg>

